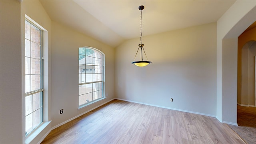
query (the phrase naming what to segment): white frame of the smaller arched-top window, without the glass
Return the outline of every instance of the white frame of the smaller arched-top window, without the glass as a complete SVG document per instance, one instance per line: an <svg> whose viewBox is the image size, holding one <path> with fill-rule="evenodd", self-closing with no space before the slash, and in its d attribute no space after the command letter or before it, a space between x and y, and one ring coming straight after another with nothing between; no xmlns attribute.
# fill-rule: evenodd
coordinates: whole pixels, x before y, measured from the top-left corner
<svg viewBox="0 0 256 144"><path fill-rule="evenodd" d="M88 105L90 105L90 104L93 104L94 102L98 102L98 101L103 100L103 99L106 98L106 96L105 96L105 54L104 54L102 51L100 51L100 50L98 50L98 49L96 49L96 48L92 48L92 47L88 47L88 46L84 46L84 47L80 47L80 48L91 48L92 50L96 50L97 52L99 52L100 54L102 54L102 68L103 68L102 72L103 72L103 74L102 74L102 80L100 80L100 81L83 82L83 83L80 83L80 82L78 81L78 88L79 88L80 85L92 84L92 83L98 83L98 82L102 82L102 84L103 84L102 87L103 87L103 88L102 88L102 98L98 98L98 99L96 99L96 100L92 100L92 101L90 101L90 102L88 102L88 103L81 104L81 105L79 105L79 94L78 94L78 109L84 108L84 107L86 107L86 106L88 106ZM79 51L79 49L78 49L78 51ZM78 55L79 55L79 54L78 54ZM79 66L79 62L78 62L78 66ZM93 66L95 66L95 65L93 65ZM78 69L79 69L79 68L78 68ZM87 69L88 69L88 68L86 68L86 70L87 70ZM92 70L90 70L90 69L92 69ZM89 68L89 72L93 72L93 68ZM78 72L78 75L79 75L79 72ZM79 77L79 76L78 76L78 77ZM79 89L78 89L78 93L79 93Z"/></svg>

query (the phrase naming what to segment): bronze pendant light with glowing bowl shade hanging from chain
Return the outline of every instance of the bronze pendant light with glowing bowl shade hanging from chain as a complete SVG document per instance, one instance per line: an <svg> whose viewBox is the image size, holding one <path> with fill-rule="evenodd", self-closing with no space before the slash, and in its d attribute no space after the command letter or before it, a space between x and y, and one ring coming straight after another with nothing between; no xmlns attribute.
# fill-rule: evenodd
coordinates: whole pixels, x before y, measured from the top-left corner
<svg viewBox="0 0 256 144"><path fill-rule="evenodd" d="M147 57L146 52L145 52L145 50L143 48L144 44L142 44L142 40L141 40L141 37L142 37L141 22L142 22L142 10L143 9L144 9L144 6L139 6L139 10L140 10L140 44L139 44L139 48L138 48L138 50L136 52L136 55L135 55L135 57L133 59L133 62L132 62L132 64L135 64L136 66L140 66L140 67L147 66L148 64L151 63L150 61L148 61L148 57ZM140 50L140 61L134 61L139 50ZM143 52L144 52L144 54L146 56L147 61L143 60Z"/></svg>

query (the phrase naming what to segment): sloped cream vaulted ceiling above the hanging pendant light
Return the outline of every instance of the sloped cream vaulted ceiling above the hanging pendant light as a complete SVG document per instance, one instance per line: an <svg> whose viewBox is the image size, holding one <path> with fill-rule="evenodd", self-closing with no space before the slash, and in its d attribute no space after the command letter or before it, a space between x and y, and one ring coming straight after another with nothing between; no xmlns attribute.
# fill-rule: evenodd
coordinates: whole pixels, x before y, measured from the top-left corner
<svg viewBox="0 0 256 144"><path fill-rule="evenodd" d="M41 0L55 22L116 47L126 39L216 22L235 0ZM143 40L143 39L142 39Z"/></svg>

